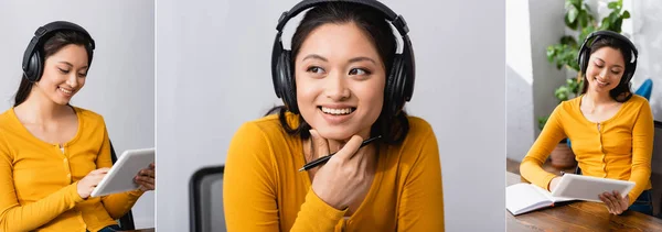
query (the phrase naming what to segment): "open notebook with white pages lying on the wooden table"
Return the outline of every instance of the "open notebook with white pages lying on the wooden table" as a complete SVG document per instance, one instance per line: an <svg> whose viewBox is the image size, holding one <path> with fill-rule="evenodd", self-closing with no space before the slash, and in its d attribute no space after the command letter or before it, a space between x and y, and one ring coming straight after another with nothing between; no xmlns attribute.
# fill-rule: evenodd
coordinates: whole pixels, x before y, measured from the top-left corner
<svg viewBox="0 0 662 232"><path fill-rule="evenodd" d="M553 197L549 191L533 184L520 183L505 188L505 209L514 216L570 200L574 199Z"/></svg>

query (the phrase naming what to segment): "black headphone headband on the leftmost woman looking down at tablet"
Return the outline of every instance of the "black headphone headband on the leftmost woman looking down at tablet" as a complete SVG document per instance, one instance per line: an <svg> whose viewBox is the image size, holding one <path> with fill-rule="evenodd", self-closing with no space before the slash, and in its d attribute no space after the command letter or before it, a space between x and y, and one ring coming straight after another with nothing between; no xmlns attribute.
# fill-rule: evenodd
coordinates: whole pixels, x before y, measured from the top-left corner
<svg viewBox="0 0 662 232"><path fill-rule="evenodd" d="M87 46L89 46L92 49L95 48L94 40L89 35L89 33L87 33L87 31L85 29L83 29L82 26L79 26L75 23L72 23L72 22L66 22L66 21L51 22L49 24L40 26L39 29L36 29L36 31L34 31L34 36L30 41L30 44L28 45L28 48L25 49L25 53L23 54L23 63L22 63L23 70L28 69L30 58L32 57L32 54L35 52L34 49L38 47L38 45L43 43L42 40L47 38L54 32L63 31L63 30L71 30L71 31L83 33L89 40L89 44ZM89 57L89 59L92 60L92 57Z"/></svg>

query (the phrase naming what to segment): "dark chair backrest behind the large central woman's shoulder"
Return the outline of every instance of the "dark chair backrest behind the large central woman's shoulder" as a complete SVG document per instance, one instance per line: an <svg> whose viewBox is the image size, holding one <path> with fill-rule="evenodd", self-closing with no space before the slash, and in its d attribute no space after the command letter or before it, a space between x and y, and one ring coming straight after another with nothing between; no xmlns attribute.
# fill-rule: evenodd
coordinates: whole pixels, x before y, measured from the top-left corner
<svg viewBox="0 0 662 232"><path fill-rule="evenodd" d="M226 231L223 212L223 170L225 166L204 167L191 177L190 216L192 232Z"/></svg>

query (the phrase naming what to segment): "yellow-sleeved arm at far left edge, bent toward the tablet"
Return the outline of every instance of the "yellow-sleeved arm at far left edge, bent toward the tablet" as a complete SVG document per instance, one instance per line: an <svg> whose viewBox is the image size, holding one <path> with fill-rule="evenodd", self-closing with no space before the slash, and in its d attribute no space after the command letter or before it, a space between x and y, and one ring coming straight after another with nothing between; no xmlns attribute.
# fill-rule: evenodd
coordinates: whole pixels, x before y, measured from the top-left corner
<svg viewBox="0 0 662 232"><path fill-rule="evenodd" d="M77 183L74 183L39 201L21 206L14 189L12 161L7 148L7 141L1 141L0 231L32 231L83 201L76 189Z"/></svg>

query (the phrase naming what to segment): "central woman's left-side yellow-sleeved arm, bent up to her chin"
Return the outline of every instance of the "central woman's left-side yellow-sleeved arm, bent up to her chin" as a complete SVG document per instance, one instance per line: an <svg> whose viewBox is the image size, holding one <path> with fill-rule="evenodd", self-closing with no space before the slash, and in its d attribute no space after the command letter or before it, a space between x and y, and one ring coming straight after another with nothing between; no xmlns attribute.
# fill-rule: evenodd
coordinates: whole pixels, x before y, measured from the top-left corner
<svg viewBox="0 0 662 232"><path fill-rule="evenodd" d="M276 161L265 133L246 123L234 135L223 177L223 205L227 231L279 231ZM333 231L344 211L308 191L290 231Z"/></svg>

